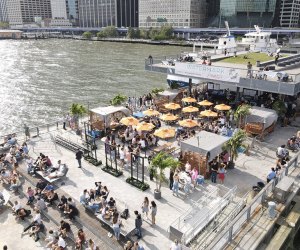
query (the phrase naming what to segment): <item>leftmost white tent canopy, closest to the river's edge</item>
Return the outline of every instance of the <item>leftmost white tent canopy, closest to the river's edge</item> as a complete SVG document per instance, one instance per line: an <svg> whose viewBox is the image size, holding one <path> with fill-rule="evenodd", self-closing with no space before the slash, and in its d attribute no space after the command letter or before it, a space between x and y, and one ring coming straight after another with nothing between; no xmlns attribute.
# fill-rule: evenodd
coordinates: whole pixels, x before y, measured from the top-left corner
<svg viewBox="0 0 300 250"><path fill-rule="evenodd" d="M130 116L130 110L123 106L107 106L98 107L91 109L90 112L96 114L101 120L105 122L105 126L109 126L111 122L111 117L115 113L122 113L123 116ZM119 117L120 118L120 117Z"/></svg>

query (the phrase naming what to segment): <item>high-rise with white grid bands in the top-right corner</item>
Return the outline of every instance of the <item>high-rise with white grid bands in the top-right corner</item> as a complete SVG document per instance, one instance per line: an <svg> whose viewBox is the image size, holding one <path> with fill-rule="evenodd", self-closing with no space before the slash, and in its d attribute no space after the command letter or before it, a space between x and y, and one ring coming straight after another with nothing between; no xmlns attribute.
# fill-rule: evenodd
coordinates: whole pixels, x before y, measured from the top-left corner
<svg viewBox="0 0 300 250"><path fill-rule="evenodd" d="M280 26L299 27L300 0L281 0Z"/></svg>

